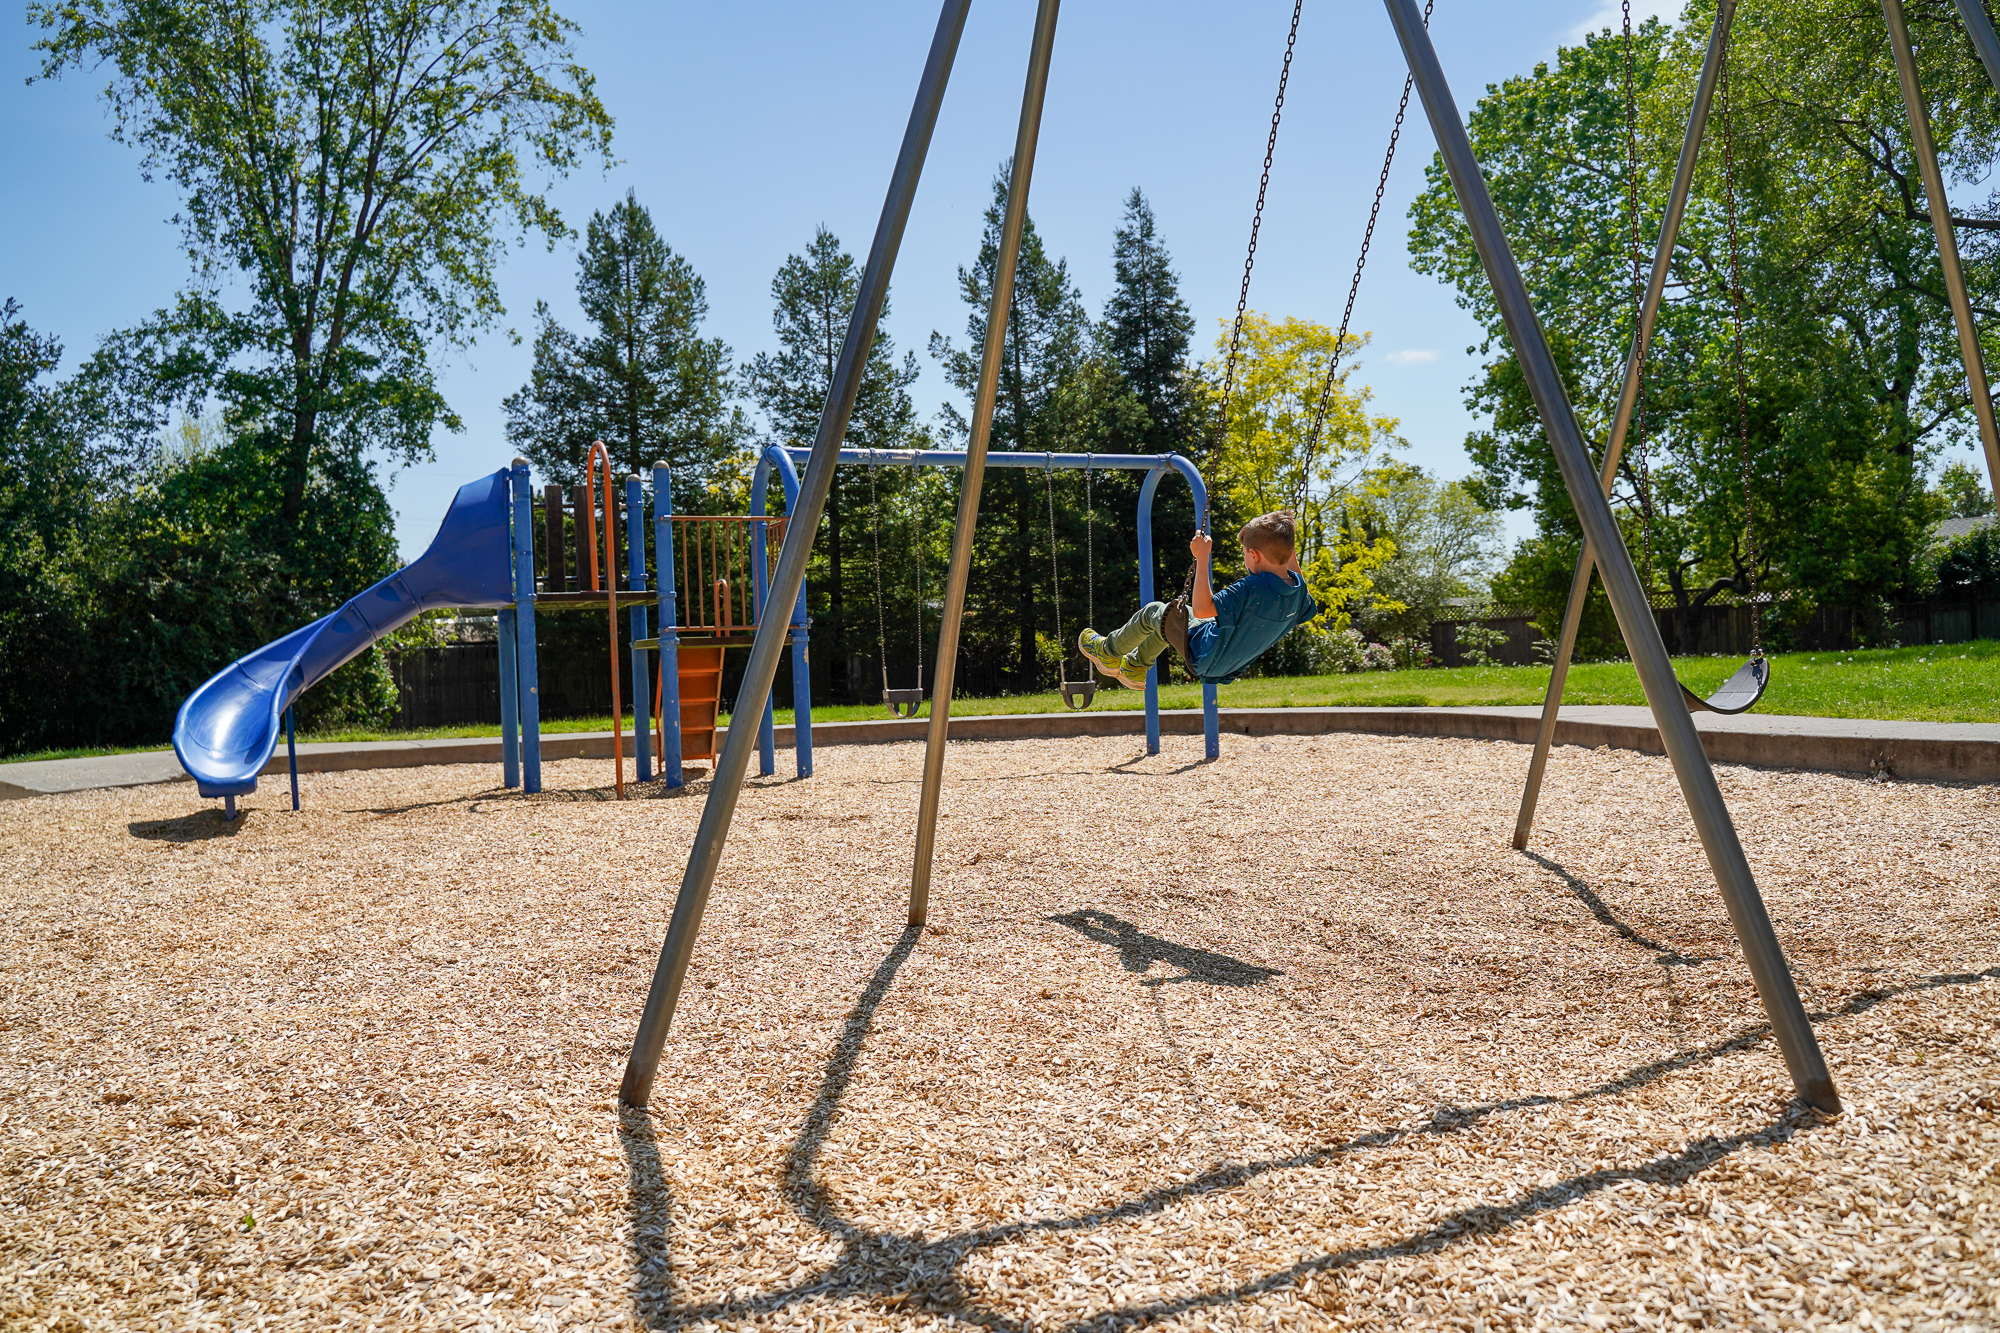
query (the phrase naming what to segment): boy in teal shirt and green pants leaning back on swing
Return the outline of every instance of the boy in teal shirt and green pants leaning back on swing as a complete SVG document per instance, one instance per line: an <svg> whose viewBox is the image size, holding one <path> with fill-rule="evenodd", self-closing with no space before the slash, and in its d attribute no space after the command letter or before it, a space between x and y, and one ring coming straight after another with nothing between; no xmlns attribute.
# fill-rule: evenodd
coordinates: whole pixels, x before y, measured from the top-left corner
<svg viewBox="0 0 2000 1333"><path fill-rule="evenodd" d="M1244 548L1244 576L1220 592L1208 580L1212 538L1196 532L1188 542L1194 554L1194 600L1186 608L1186 646L1174 642L1174 648L1198 679L1216 685L1234 681L1294 624L1320 614L1320 604L1306 592L1294 538L1296 520L1288 510L1246 522L1236 534ZM1142 691L1146 669L1178 630L1174 606L1146 602L1110 634L1086 628L1076 636L1076 648L1118 685Z"/></svg>

